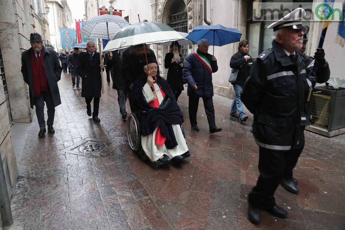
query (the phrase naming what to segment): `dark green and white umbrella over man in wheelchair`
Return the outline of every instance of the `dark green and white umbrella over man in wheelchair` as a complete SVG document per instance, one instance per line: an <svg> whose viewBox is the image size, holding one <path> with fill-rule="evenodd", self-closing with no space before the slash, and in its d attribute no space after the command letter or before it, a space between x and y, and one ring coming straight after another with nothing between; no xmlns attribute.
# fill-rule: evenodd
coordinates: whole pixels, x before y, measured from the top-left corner
<svg viewBox="0 0 345 230"><path fill-rule="evenodd" d="M182 40L182 37L171 27L159 22L138 22L119 30L108 42L104 51L124 49L138 44L156 44Z"/></svg>

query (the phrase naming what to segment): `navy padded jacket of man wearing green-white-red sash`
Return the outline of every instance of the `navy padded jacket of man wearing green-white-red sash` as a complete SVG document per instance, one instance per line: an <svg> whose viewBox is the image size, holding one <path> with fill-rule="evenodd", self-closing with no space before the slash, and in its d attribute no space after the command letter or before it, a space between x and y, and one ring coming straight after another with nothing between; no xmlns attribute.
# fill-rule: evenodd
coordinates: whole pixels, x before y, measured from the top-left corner
<svg viewBox="0 0 345 230"><path fill-rule="evenodd" d="M210 62L212 67L212 73L218 71L217 61L212 61L212 55L209 53L200 53ZM189 97L209 98L213 97L213 83L212 73L207 67L199 61L193 53L186 57L185 65L183 67L183 77L188 83L187 95ZM198 89L192 89L197 85Z"/></svg>

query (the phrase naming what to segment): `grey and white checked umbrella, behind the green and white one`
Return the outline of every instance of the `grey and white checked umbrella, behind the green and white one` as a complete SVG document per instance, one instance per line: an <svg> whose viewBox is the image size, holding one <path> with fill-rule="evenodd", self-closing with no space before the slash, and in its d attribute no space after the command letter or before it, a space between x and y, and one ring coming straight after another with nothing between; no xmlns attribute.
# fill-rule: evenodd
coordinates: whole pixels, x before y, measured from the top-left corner
<svg viewBox="0 0 345 230"><path fill-rule="evenodd" d="M121 28L128 26L129 23L117 15L103 14L91 18L80 30L80 33L88 38L112 38Z"/></svg>

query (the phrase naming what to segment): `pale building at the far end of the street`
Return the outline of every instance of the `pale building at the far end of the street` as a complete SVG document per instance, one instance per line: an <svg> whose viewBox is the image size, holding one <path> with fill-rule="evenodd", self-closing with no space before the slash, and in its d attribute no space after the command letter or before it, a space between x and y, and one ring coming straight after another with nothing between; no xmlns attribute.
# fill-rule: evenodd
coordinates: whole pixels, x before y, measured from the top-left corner
<svg viewBox="0 0 345 230"><path fill-rule="evenodd" d="M47 5L50 9L48 14L50 43L59 52L62 50L60 29L72 28L72 13L67 1L47 0Z"/></svg>

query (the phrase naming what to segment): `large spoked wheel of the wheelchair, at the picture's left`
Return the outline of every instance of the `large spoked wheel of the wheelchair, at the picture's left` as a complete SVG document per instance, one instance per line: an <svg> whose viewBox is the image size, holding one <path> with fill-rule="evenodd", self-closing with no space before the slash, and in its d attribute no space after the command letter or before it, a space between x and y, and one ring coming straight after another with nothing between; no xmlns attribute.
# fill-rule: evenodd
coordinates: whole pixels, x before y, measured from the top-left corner
<svg viewBox="0 0 345 230"><path fill-rule="evenodd" d="M141 139L139 133L139 120L135 113L130 114L127 118L127 137L129 147L134 151L138 151Z"/></svg>

